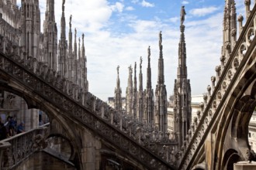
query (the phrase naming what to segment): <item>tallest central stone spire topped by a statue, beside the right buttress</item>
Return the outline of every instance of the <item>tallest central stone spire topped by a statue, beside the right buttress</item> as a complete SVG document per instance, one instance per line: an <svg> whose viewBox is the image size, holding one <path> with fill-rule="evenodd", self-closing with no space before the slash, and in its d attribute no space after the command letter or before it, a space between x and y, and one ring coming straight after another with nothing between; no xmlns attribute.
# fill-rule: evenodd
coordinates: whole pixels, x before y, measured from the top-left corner
<svg viewBox="0 0 256 170"><path fill-rule="evenodd" d="M191 111L191 88L188 80L186 65L186 44L185 44L185 8L181 9L181 36L178 43L178 71L177 79L174 86L174 131L179 132L177 135L178 147L182 147L186 134L189 131L192 120Z"/></svg>

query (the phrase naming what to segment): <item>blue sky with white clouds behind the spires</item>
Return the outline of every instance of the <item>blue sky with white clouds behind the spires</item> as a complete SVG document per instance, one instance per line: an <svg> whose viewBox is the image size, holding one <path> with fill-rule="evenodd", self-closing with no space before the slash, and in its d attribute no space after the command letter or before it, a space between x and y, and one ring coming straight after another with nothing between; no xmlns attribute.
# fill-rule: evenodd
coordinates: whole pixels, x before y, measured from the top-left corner
<svg viewBox="0 0 256 170"><path fill-rule="evenodd" d="M244 1L236 2L237 15L244 15ZM46 0L40 0L42 23L45 3ZM55 0L58 35L61 4L61 0ZM140 56L144 60L145 88L148 46L151 47L152 85L155 89L158 33L162 31L165 84L169 97L173 93L178 66L180 8L185 5L188 78L192 95L205 93L207 85L211 84L210 77L215 76L215 67L220 65L224 4L224 0L66 0L67 26L69 16L73 15L73 33L74 28L78 29L78 36L85 33L89 91L102 100L113 97L116 66L119 65L122 96L125 97L128 66L134 66L134 62L138 66Z"/></svg>

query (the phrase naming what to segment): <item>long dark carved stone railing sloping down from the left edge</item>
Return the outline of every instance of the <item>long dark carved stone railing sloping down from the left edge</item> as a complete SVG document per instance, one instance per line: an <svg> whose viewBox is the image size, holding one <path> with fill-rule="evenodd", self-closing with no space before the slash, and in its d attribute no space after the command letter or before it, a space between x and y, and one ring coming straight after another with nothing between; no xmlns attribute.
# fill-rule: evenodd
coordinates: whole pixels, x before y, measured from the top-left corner
<svg viewBox="0 0 256 170"><path fill-rule="evenodd" d="M152 140L147 133L140 135L140 128L138 128L136 134L127 135L126 131L120 130L123 127L122 124L128 124L128 129L133 127L129 126L130 122L125 122L122 114L117 113L91 93L85 93L68 80L57 76L54 71L48 70L47 66L37 63L36 59L27 57L26 53L21 53L17 49L17 46L5 43L3 48L5 54L0 53L0 71L22 84L26 90L50 102L62 112L67 113L68 117L80 122L116 148L141 162L145 167L150 169L173 168L168 163L171 161L172 151L171 147L168 147L168 134L157 134ZM123 123L114 121L118 119L123 120ZM159 145L159 141L166 141L166 147L162 147L164 143Z"/></svg>

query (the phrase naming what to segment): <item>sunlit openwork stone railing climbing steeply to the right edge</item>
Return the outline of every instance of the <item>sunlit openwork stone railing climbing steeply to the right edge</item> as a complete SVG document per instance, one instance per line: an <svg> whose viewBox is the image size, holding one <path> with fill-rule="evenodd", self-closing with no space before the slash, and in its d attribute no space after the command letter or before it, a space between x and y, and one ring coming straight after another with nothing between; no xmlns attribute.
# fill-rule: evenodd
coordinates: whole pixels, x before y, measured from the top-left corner
<svg viewBox="0 0 256 170"><path fill-rule="evenodd" d="M252 47L255 46L251 46L251 43L256 41L254 39L256 33L256 5L251 11L247 7L246 13L247 22L244 27L242 26L243 17L241 15L238 17L240 36L234 50L230 53L230 57L226 59L227 62L223 63L223 66L216 66L216 76L212 76L212 86L207 87L208 93L204 95L202 110L198 112L198 117L193 120L189 134L182 146L178 169L190 167L193 158L196 156L195 153L199 153L199 149L204 146L210 129L216 123L216 117L220 113L223 101L229 94L235 80L237 80L238 73L244 68L247 60L245 56L249 56L246 54L250 54ZM230 46L225 46L225 48L230 48Z"/></svg>

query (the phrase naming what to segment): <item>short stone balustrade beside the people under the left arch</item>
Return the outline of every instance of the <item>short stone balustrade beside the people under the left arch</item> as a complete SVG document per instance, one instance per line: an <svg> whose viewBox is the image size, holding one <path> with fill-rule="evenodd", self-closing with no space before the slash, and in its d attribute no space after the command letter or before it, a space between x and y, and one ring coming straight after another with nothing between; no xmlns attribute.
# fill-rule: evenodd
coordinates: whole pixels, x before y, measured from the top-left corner
<svg viewBox="0 0 256 170"><path fill-rule="evenodd" d="M39 148L36 145L36 136L47 136L48 129L46 124L0 141L0 153L2 153L0 169L11 169L37 151Z"/></svg>

